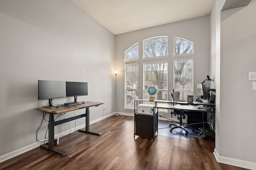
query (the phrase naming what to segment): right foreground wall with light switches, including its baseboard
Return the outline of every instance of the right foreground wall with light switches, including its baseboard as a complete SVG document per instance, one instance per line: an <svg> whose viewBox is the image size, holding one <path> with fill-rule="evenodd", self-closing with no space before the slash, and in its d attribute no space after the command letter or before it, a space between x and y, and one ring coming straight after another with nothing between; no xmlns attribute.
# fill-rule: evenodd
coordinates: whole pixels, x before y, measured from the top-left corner
<svg viewBox="0 0 256 170"><path fill-rule="evenodd" d="M220 40L216 36L220 52L212 48L217 53L216 90L220 88L220 96L216 98L214 155L218 162L255 169L256 91L252 90L253 81L248 80L248 72L256 70L256 0L244 8L220 13L224 2L216 0L217 18L211 17L217 29L220 24ZM213 34L214 31L211 36Z"/></svg>

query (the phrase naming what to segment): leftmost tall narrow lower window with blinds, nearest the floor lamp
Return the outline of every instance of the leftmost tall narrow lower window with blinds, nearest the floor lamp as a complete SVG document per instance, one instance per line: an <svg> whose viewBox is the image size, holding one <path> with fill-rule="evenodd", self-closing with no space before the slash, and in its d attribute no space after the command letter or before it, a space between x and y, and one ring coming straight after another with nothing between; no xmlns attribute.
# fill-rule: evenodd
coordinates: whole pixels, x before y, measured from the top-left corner
<svg viewBox="0 0 256 170"><path fill-rule="evenodd" d="M134 99L138 99L139 82L138 63L125 65L125 108L134 108Z"/></svg>

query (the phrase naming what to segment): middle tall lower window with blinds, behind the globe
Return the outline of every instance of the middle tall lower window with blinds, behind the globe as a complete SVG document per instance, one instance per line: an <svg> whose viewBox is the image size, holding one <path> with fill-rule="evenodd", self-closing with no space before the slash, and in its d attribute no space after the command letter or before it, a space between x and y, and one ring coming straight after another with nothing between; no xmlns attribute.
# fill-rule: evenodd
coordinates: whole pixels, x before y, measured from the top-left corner
<svg viewBox="0 0 256 170"><path fill-rule="evenodd" d="M143 99L149 99L148 87L156 86L158 92L155 100L167 100L167 71L167 61L143 64Z"/></svg>

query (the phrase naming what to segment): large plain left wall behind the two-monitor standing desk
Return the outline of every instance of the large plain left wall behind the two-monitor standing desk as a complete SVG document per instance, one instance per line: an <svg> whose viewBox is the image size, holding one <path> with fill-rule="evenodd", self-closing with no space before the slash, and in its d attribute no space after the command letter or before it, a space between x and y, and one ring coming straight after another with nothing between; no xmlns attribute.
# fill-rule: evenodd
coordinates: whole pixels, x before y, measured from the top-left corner
<svg viewBox="0 0 256 170"><path fill-rule="evenodd" d="M90 108L90 121L104 117L104 106L107 114L114 111L115 36L105 27L69 0L1 0L0 23L0 156L36 143L42 113L34 107L48 103L37 99L38 80L88 82L88 96L78 100L104 102ZM84 123L76 120L76 126ZM46 129L44 121L38 140L44 139ZM70 127L65 123L55 129L61 133Z"/></svg>

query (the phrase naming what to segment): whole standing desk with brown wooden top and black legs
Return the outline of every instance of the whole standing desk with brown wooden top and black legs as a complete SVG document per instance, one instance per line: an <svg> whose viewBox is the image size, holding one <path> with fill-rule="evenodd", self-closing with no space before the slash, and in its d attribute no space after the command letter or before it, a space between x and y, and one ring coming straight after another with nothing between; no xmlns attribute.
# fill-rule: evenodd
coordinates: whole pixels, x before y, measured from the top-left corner
<svg viewBox="0 0 256 170"><path fill-rule="evenodd" d="M82 128L82 129L78 129L78 131L83 131L83 132L86 132L86 133L92 133L92 134L95 134L95 135L101 135L101 133L90 131L90 111L89 111L89 107L92 107L92 106L97 107L97 106L100 106L101 104L104 104L104 103L102 103L102 102L87 102L85 104L78 104L78 105L75 105L75 106L60 106L60 107L50 107L50 108L48 108L48 107L36 107L36 108L34 108L35 110L49 113L49 121L48 121L48 137L49 137L49 140L48 140L48 145L43 144L43 145L40 145L40 146L44 147L44 148L47 148L49 150L52 150L54 152L57 152L59 154L62 154L62 156L65 156L66 154L68 154L68 152L54 147L54 126L60 125L62 123L66 123L68 121L72 121L72 120L75 120L75 119L79 119L79 118L82 118L82 117L86 117L85 118L86 127ZM66 113L68 111L74 111L74 110L84 109L84 108L86 108L85 114L69 117L68 119L62 119L62 120L59 120L59 121L54 121L54 114Z"/></svg>

